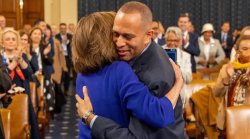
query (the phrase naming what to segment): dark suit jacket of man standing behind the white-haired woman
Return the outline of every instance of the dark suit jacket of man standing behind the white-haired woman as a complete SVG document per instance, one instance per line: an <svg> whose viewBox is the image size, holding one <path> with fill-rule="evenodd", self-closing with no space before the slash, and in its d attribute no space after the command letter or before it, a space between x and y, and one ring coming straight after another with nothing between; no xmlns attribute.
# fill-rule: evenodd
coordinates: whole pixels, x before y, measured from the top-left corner
<svg viewBox="0 0 250 139"><path fill-rule="evenodd" d="M189 45L187 48L183 48L184 51L188 52L191 55L191 63L192 63L192 72L196 72L196 62L194 57L200 55L200 48L198 45L198 35L194 33L189 34Z"/></svg>

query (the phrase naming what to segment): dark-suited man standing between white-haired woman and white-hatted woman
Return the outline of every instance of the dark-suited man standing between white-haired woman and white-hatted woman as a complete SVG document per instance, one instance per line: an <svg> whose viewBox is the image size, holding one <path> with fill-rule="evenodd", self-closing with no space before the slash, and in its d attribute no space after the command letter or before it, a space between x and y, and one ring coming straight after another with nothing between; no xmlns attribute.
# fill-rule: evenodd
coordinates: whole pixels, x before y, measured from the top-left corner
<svg viewBox="0 0 250 139"><path fill-rule="evenodd" d="M178 26L182 30L182 49L191 55L192 72L196 72L196 62L194 57L200 55L200 49L198 45L198 35L188 32L189 27L189 15L188 13L181 14L178 19Z"/></svg>

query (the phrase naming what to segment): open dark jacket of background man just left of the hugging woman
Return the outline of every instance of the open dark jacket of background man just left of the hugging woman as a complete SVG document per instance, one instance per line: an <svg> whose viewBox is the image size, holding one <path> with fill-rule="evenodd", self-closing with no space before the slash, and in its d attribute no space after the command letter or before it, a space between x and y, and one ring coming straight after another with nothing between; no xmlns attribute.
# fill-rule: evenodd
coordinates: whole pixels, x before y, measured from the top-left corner
<svg viewBox="0 0 250 139"><path fill-rule="evenodd" d="M56 34L55 38L58 39L60 41L60 43L62 43L62 37L61 37L60 33ZM65 60L66 60L67 67L70 68L73 66L72 53L71 53L71 42L72 42L73 36L71 34L67 33L67 38L69 40L69 43L67 44L68 56L66 57Z"/></svg>

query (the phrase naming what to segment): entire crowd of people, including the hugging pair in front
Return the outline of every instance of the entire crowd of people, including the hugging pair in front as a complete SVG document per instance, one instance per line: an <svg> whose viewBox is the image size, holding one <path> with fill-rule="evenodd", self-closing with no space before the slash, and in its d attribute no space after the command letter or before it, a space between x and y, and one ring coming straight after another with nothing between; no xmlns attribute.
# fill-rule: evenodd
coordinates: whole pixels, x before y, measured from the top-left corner
<svg viewBox="0 0 250 139"><path fill-rule="evenodd" d="M6 28L5 20L0 15L0 97L11 87L7 78L25 89L31 138L39 138L29 89L31 81L39 86L36 75L44 76L46 110L52 117L60 113L64 96L72 95L73 79L81 139L188 138L185 122L197 117L186 113L183 118L192 109L193 92L186 86L204 69L218 71L209 93L223 98L213 108L218 116L214 127L225 130L226 107L250 102L249 26L231 35L227 21L221 31L205 23L199 36L184 13L165 31L148 6L134 1L117 13L82 17L75 29L61 23L59 33L56 25L41 20L19 31ZM176 61L164 49L176 49Z"/></svg>

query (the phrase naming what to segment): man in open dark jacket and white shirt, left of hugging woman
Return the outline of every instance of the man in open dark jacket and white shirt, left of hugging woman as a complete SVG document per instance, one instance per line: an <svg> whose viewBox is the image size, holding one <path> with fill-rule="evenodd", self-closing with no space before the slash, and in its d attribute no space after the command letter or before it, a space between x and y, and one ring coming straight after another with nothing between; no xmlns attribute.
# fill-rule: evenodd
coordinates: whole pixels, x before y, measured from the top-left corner
<svg viewBox="0 0 250 139"><path fill-rule="evenodd" d="M70 33L67 33L67 25L65 23L60 23L59 27L60 33L56 34L56 39L58 39L61 43L63 54L65 56L66 65L68 68L68 71L63 71L62 74L62 81L64 86L64 94L69 94L69 81L70 81L70 71L72 69L72 54L71 54L71 42L72 42L72 35Z"/></svg>

